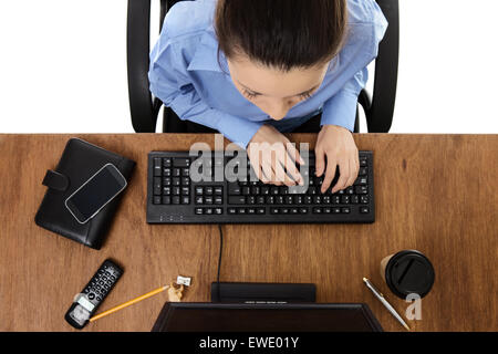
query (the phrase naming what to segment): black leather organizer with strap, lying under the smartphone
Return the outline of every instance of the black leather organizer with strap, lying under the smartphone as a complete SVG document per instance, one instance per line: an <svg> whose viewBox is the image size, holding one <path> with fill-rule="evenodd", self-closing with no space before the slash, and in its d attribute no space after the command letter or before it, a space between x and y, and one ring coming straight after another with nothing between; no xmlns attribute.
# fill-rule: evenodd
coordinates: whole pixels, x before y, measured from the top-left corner
<svg viewBox="0 0 498 354"><path fill-rule="evenodd" d="M102 208L92 219L80 223L65 207L65 199L81 187L105 164L113 164L129 181L135 162L105 150L80 138L71 138L65 145L55 169L49 169L42 184L49 189L38 209L34 221L38 226L100 249L120 205L123 190Z"/></svg>

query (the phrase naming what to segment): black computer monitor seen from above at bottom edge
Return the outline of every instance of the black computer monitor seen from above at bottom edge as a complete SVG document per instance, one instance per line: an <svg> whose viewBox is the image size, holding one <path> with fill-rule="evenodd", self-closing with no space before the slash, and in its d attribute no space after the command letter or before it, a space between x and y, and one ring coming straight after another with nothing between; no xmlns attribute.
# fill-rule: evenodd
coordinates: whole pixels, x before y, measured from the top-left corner
<svg viewBox="0 0 498 354"><path fill-rule="evenodd" d="M366 304L166 303L155 332L378 332Z"/></svg>

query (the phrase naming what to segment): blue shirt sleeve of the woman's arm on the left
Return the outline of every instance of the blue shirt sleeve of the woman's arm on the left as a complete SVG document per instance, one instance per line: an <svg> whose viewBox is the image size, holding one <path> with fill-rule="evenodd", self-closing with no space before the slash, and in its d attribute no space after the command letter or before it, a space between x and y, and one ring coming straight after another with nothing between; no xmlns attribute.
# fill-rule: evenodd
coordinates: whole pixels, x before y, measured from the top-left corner
<svg viewBox="0 0 498 354"><path fill-rule="evenodd" d="M188 63L184 56L175 52L175 45L168 40L159 39L151 52L151 92L180 119L217 129L231 142L246 148L262 123L209 107L196 91L187 67Z"/></svg>

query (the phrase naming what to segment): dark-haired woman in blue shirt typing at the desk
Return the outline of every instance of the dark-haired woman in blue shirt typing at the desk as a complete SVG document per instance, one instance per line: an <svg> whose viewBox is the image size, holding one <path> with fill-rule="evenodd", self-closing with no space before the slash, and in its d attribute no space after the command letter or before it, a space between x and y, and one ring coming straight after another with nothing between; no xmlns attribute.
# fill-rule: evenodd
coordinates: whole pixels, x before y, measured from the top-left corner
<svg viewBox="0 0 498 354"><path fill-rule="evenodd" d="M357 177L357 96L386 27L374 0L183 1L151 53L151 91L246 148L257 176L276 185L302 184L282 133L321 113L315 174L324 192L339 166L335 192ZM252 148L261 143L271 149Z"/></svg>

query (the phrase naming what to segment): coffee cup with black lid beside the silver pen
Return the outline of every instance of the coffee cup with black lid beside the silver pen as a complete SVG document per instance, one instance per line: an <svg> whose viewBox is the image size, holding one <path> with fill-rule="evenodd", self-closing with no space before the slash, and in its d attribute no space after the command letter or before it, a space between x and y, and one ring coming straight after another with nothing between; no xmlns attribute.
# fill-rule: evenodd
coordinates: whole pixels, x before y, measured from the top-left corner
<svg viewBox="0 0 498 354"><path fill-rule="evenodd" d="M428 294L435 280L434 267L422 252L404 250L381 261L381 275L387 287L401 299L408 294L422 298Z"/></svg>

